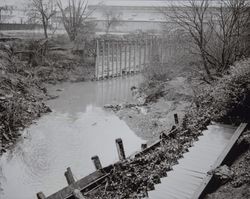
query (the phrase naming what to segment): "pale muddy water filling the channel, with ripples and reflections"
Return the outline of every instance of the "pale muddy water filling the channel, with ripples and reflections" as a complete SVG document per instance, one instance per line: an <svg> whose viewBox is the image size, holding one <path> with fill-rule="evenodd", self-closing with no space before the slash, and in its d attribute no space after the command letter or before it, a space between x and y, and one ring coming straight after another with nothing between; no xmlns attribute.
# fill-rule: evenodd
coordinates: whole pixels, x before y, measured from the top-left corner
<svg viewBox="0 0 250 199"><path fill-rule="evenodd" d="M93 155L103 166L118 159L115 139L122 138L130 154L140 148L137 137L106 103L132 101L130 88L141 77L64 83L49 88L60 97L48 101L53 109L23 132L17 146L0 159L1 199L32 199L66 186L64 171L71 167L76 179L94 171Z"/></svg>

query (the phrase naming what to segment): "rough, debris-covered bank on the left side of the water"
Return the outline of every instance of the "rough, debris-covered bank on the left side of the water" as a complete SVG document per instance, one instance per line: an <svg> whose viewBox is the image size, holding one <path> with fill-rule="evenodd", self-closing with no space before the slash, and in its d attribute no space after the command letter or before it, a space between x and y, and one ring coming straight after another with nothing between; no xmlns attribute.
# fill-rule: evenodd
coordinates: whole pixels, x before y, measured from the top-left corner
<svg viewBox="0 0 250 199"><path fill-rule="evenodd" d="M94 77L93 63L53 40L6 39L0 42L0 154L17 141L20 130L41 114L53 97L46 84Z"/></svg>

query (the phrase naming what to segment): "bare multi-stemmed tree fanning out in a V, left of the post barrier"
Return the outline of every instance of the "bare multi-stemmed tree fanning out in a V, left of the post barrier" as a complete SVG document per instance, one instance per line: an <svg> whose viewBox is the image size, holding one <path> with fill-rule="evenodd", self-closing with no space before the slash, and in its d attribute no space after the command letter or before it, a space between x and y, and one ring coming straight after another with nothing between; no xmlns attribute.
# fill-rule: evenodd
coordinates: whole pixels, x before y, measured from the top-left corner
<svg viewBox="0 0 250 199"><path fill-rule="evenodd" d="M62 22L64 28L71 41L74 41L81 29L86 28L87 19L93 10L87 10L87 2L85 0L68 0L68 6L63 7L60 0L57 5L62 14Z"/></svg>

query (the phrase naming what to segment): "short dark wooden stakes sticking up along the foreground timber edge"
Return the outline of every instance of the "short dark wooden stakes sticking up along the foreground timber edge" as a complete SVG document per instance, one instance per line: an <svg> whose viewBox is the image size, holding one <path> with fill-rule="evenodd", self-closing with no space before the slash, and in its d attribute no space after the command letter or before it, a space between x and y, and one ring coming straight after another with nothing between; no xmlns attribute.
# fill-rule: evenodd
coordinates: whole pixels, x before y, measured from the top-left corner
<svg viewBox="0 0 250 199"><path fill-rule="evenodd" d="M175 124L179 125L179 119L178 119L178 115L174 114L174 119L175 119ZM117 152L118 152L118 157L120 161L124 161L126 160L126 154L125 154L125 150L124 150L124 146L123 146L123 141L121 138L118 138L115 140L116 143L116 148L117 148ZM144 151L148 148L147 144L141 144L141 150ZM91 160L96 168L96 170L101 170L102 164L101 161L99 159L99 157L97 155L91 157ZM76 181L74 179L73 173L71 171L71 168L68 167L67 170L64 173L64 176L67 180L68 185L72 185L74 184ZM74 195L75 199L85 199L84 196L82 195L81 191L77 188L75 188L72 192L72 194ZM37 193L37 198L38 199L46 199L45 195L43 192L39 192Z"/></svg>

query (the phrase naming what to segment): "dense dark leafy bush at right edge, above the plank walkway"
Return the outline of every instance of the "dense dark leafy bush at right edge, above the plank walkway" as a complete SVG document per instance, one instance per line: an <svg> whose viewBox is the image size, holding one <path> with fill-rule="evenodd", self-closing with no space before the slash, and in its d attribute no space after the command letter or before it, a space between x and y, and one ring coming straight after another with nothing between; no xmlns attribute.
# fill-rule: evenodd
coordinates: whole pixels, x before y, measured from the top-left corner
<svg viewBox="0 0 250 199"><path fill-rule="evenodd" d="M250 59L236 62L227 74L200 88L198 112L214 121L238 123L250 119Z"/></svg>

